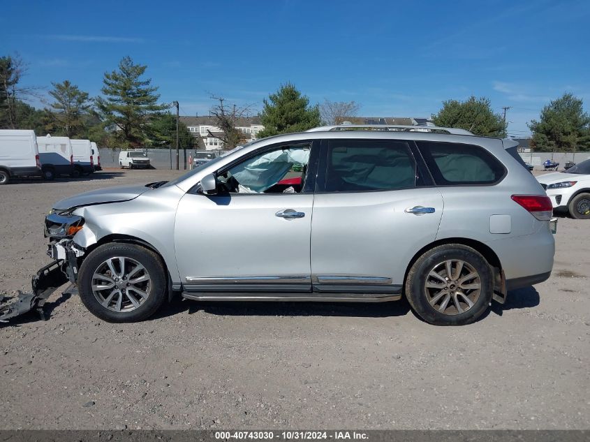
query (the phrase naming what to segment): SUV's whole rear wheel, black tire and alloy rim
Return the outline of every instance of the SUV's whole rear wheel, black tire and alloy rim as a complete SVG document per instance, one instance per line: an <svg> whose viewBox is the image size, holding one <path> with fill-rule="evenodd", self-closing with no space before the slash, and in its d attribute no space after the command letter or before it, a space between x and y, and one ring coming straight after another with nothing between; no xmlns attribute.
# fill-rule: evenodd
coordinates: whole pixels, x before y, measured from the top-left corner
<svg viewBox="0 0 590 442"><path fill-rule="evenodd" d="M492 268L475 249L445 244L425 252L406 278L406 297L433 325L465 325L485 313L494 293Z"/></svg>

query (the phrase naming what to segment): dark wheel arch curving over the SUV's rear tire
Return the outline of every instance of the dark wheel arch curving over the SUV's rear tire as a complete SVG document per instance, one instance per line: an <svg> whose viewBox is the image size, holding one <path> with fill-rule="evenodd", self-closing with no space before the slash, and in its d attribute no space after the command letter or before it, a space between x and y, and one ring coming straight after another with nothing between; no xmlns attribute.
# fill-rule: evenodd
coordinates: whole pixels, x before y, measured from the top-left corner
<svg viewBox="0 0 590 442"><path fill-rule="evenodd" d="M408 272L410 272L410 269L412 268L416 260L418 260L420 256L422 256L430 249L434 249L434 247L443 246L445 244L461 244L463 246L471 247L471 249L475 249L475 251L481 253L481 255L485 258L487 263L489 263L490 267L492 267L492 272L494 276L494 300L497 300L501 303L503 303L503 300L506 300L506 277L504 276L504 271L502 268L500 258L498 257L496 252L494 252L494 250L492 250L492 248L489 247L487 244L484 244L483 242L480 242L478 240L471 240L470 238L441 238L441 240L436 240L422 247L422 249L415 253L413 258L408 263L408 266L406 267L406 272L404 273L404 287L406 286Z"/></svg>

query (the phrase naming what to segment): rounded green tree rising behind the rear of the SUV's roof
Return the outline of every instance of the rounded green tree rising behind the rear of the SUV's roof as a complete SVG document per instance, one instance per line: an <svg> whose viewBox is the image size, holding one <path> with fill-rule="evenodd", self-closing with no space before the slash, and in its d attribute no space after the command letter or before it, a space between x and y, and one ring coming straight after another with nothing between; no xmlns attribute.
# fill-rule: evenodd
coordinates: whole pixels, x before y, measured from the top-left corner
<svg viewBox="0 0 590 442"><path fill-rule="evenodd" d="M443 108L432 115L436 126L466 129L475 135L506 137L506 121L494 113L489 98L475 96L466 101L443 101Z"/></svg>

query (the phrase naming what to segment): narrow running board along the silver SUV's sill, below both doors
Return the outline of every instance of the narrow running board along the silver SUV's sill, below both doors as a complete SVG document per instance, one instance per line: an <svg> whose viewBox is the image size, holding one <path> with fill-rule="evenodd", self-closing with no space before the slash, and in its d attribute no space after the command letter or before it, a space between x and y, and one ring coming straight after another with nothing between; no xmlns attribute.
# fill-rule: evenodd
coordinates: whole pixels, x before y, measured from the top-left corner
<svg viewBox="0 0 590 442"><path fill-rule="evenodd" d="M300 293L189 293L182 292L186 300L195 301L284 301L284 302L388 302L398 301L401 295L357 295L351 293L331 293L330 296L301 295Z"/></svg>

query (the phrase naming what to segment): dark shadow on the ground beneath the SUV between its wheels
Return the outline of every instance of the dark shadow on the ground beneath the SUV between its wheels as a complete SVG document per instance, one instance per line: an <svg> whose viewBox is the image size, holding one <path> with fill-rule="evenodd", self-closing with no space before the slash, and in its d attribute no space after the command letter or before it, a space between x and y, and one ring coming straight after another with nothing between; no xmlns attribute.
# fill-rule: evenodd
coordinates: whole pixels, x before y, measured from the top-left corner
<svg viewBox="0 0 590 442"><path fill-rule="evenodd" d="M177 296L151 319L205 311L219 316L351 316L386 318L405 316L410 305L405 298L392 302L271 302L271 301L193 301Z"/></svg>

